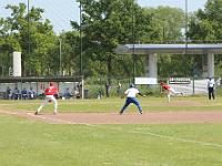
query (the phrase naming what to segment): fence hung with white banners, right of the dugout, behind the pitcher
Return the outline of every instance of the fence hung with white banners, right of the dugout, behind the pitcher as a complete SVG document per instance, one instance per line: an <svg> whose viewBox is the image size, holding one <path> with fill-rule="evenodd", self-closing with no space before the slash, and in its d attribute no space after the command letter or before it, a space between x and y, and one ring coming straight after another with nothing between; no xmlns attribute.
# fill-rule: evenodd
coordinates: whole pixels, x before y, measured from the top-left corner
<svg viewBox="0 0 222 166"><path fill-rule="evenodd" d="M162 77L158 79L157 84L138 84L135 85L143 94L150 96L159 96L161 94L160 82L168 83L175 91L183 92L184 95L206 95L208 94L208 81L205 77ZM215 77L215 91L218 95L221 94L221 79ZM130 84L133 83L130 79L112 79L112 83L109 84L102 79L88 79L85 82L85 89L88 90L89 97L112 97L122 96L124 91L129 89Z"/></svg>

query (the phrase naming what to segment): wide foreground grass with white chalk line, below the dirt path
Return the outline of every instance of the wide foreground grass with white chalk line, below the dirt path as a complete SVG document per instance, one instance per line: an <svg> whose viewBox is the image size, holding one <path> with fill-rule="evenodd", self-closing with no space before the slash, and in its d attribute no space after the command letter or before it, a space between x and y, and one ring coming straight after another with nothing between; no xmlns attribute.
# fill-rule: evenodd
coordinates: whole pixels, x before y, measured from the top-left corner
<svg viewBox="0 0 222 166"><path fill-rule="evenodd" d="M0 115L2 166L220 166L222 124L56 125Z"/></svg>

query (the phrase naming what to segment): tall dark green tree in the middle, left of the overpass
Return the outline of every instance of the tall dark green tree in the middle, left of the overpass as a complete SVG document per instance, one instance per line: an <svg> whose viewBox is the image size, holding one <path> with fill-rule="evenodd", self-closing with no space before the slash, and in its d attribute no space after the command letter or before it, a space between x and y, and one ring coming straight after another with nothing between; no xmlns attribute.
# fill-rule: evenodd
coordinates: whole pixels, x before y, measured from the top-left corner
<svg viewBox="0 0 222 166"><path fill-rule="evenodd" d="M81 4L83 54L84 64L88 64L84 70L91 71L90 69L95 69L100 63L111 82L110 77L119 73L113 69L117 60L113 49L120 43L139 41L147 30L148 18L135 0L81 0ZM77 22L72 22L72 25L73 29L80 30ZM107 68L103 68L104 65Z"/></svg>

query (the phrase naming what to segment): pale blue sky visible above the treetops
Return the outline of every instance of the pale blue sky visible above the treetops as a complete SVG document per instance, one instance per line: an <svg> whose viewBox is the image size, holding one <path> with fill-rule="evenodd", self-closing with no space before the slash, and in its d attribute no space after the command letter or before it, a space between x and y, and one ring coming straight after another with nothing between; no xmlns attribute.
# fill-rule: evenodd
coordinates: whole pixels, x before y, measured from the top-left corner
<svg viewBox="0 0 222 166"><path fill-rule="evenodd" d="M137 0L141 7L170 6L185 10L185 0ZM0 17L9 17L7 4L28 3L28 0L0 0ZM203 9L206 0L188 0L188 10L193 12ZM71 30L70 20L79 22L79 3L75 0L29 0L30 8L44 9L43 19L49 19L57 33Z"/></svg>

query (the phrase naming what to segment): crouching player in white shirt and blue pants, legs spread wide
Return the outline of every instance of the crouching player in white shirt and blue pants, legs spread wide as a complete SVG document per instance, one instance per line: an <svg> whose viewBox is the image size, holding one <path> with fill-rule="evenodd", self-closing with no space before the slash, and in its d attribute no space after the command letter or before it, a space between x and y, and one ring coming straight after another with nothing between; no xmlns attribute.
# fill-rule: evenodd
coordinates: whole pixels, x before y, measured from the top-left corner
<svg viewBox="0 0 222 166"><path fill-rule="evenodd" d="M121 108L121 111L120 111L119 114L122 115L123 112L124 112L124 110L125 110L131 103L135 104L135 105L138 106L139 114L142 114L142 107L140 106L140 103L139 103L139 101L137 100L135 95L137 95L137 94L139 94L139 95L141 95L141 96L145 96L145 95L141 94L141 93L139 92L139 90L135 89L134 84L130 84L130 89L128 89L128 90L124 92L124 94L125 94L128 97L127 97L125 104L123 105L123 107Z"/></svg>

